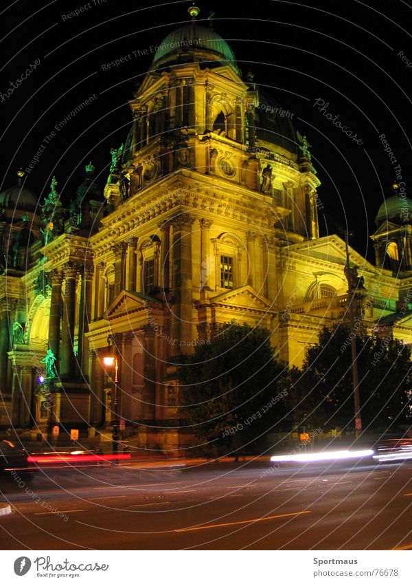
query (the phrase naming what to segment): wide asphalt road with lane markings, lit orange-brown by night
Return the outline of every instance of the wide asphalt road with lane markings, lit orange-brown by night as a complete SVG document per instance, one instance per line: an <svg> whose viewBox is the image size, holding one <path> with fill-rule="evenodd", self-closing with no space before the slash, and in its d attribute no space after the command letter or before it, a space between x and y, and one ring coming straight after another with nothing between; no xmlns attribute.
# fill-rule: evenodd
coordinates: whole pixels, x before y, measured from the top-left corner
<svg viewBox="0 0 412 584"><path fill-rule="evenodd" d="M3 550L412 549L412 462L119 466L15 478L0 480L14 509L0 517Z"/></svg>

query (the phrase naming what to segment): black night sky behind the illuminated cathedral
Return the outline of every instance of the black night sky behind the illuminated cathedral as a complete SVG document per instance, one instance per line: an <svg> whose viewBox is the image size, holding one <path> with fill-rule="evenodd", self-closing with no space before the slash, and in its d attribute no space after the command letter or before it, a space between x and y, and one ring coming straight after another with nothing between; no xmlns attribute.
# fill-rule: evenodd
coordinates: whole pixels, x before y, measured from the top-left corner
<svg viewBox="0 0 412 584"><path fill-rule="evenodd" d="M16 170L30 164L52 131L56 135L27 186L43 197L55 174L58 190L69 200L83 180L84 164L92 160L103 187L109 149L124 142L131 124L128 100L150 69L150 47L189 20L190 4L16 0L1 8L1 190L16 182ZM255 82L294 113L295 126L312 144L322 182L321 235L347 224L355 232L354 247L372 259L369 235L384 197L393 194L398 164L412 198L412 6L402 0L201 1L198 6L198 21L207 23L211 10L216 13L213 26L233 48L243 73L251 69ZM76 10L78 16L67 17ZM145 49L147 56L134 56ZM102 67L128 54L119 67ZM56 131L55 125L93 94L93 102ZM359 143L325 113L339 116L335 119ZM384 151L382 134L396 164Z"/></svg>

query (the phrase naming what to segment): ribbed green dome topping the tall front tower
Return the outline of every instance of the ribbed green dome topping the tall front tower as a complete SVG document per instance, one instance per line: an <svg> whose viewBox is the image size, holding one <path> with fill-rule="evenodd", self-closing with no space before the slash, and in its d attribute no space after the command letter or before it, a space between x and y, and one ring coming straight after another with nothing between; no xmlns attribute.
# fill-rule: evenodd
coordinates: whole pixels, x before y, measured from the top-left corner
<svg viewBox="0 0 412 584"><path fill-rule="evenodd" d="M220 34L215 32L210 26L198 25L196 21L185 24L181 28L170 32L157 47L152 66L160 65L165 61L172 60L176 54L191 54L200 50L209 52L211 61L227 63L240 73L236 64L236 57L231 47ZM206 59L207 60L207 59Z"/></svg>

